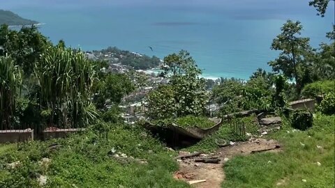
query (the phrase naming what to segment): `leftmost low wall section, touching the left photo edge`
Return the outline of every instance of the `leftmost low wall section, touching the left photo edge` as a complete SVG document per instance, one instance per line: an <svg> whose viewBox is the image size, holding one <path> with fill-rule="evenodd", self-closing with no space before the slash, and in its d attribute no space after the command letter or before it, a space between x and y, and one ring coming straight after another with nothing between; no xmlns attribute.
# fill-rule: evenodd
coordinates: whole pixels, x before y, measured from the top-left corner
<svg viewBox="0 0 335 188"><path fill-rule="evenodd" d="M34 140L34 130L0 130L0 143Z"/></svg>

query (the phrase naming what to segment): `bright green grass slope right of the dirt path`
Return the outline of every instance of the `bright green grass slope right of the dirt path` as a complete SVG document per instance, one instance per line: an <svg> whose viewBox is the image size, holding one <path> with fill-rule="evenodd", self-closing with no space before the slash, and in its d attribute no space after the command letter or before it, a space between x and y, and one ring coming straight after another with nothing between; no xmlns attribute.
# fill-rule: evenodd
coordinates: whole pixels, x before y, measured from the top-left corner
<svg viewBox="0 0 335 188"><path fill-rule="evenodd" d="M334 122L335 116L317 116L304 132L286 126L270 134L283 152L234 157L222 187L334 187Z"/></svg>

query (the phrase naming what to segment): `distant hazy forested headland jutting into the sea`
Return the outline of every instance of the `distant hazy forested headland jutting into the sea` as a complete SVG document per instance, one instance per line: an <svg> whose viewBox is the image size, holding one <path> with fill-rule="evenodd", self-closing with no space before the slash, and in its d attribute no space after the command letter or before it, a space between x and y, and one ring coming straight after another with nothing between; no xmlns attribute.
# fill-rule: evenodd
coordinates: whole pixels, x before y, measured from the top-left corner
<svg viewBox="0 0 335 188"><path fill-rule="evenodd" d="M38 24L38 22L24 19L9 10L0 10L0 25L7 24L9 26L24 26Z"/></svg>

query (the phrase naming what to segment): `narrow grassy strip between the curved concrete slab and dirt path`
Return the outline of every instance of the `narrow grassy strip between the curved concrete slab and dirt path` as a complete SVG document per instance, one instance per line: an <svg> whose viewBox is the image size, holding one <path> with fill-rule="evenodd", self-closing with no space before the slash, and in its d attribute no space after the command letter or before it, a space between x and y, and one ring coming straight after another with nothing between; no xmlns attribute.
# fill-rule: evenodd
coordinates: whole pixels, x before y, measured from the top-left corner
<svg viewBox="0 0 335 188"><path fill-rule="evenodd" d="M258 130L258 125L253 122L255 116L250 116L246 118L236 118L235 121L239 123L244 123L246 126L246 133L254 134ZM223 123L219 130L210 136L205 137L195 145L185 148L188 151L202 151L202 152L214 152L218 149L216 141L225 140L228 141L246 141L248 137L246 135L241 135L238 132L234 132L232 129L232 123Z"/></svg>

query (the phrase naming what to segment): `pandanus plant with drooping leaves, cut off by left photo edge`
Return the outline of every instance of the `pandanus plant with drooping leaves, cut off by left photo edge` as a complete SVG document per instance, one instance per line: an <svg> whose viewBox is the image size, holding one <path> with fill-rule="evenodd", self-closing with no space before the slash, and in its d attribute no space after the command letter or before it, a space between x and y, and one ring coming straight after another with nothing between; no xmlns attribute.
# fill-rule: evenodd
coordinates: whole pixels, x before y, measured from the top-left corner
<svg viewBox="0 0 335 188"><path fill-rule="evenodd" d="M10 129L17 96L22 85L21 72L8 56L0 56L0 128Z"/></svg>

